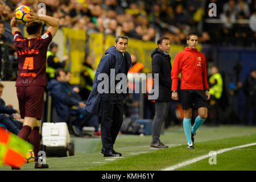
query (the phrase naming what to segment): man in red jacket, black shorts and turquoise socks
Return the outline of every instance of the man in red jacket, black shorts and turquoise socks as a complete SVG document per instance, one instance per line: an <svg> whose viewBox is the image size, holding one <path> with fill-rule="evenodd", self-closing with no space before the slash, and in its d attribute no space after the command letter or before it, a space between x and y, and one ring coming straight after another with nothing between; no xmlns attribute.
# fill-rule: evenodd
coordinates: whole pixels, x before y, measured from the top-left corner
<svg viewBox="0 0 256 182"><path fill-rule="evenodd" d="M193 149L196 130L207 118L207 100L210 98L207 82L207 67L204 54L197 51L198 35L191 32L187 36L188 47L178 52L172 65L172 99L178 100L177 82L181 73L180 94L181 105L184 110L183 128L187 137L188 148ZM199 115L191 129L192 107Z"/></svg>

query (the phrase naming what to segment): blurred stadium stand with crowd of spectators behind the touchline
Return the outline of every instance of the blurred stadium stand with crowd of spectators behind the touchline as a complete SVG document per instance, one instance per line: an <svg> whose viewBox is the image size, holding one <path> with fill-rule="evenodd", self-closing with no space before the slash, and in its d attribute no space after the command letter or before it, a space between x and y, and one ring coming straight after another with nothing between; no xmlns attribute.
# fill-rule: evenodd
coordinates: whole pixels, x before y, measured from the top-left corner
<svg viewBox="0 0 256 182"><path fill-rule="evenodd" d="M229 99L226 103L230 105L237 103L232 105L236 108L232 109L229 115L233 115L234 111L240 118L237 122L241 121L244 112L243 105L245 105L241 83L245 81L250 69L256 68L254 63L256 56L255 0L58 0L42 2L46 5L47 15L60 19L60 30L68 27L86 32L86 46L81 48L85 51L86 57L90 56L91 49L95 50L93 46L96 45L92 45L95 42L91 42L95 33L104 35L102 43L97 43L104 48L108 35L127 35L129 38L142 40L143 44L155 42L160 36L167 36L172 46L185 46L188 32L199 32L201 51L207 58L209 69L211 65L217 65L225 77L226 88L224 90L226 100ZM216 5L216 16L209 16L209 11L212 10L212 7L209 7L210 3ZM15 81L18 74L16 52L10 44L13 41L10 19L13 17L15 7L19 5L30 6L34 11L38 9L38 1L34 0L0 2L0 19L5 22L3 35L9 38L9 42L0 42L0 46L5 47L0 51L1 80ZM20 27L23 26L20 25ZM70 43L72 40L63 40L65 44L68 44L68 41ZM8 56L4 51L6 49L9 50ZM98 54L101 56L101 52ZM174 56L172 56L172 61ZM83 62L84 59L80 61ZM151 64L151 60L147 60L147 63ZM97 64L96 60L94 64ZM148 65L143 64L145 67ZM81 73L72 74L80 75ZM80 85L82 81L81 79L75 84ZM228 107L227 104L225 106ZM224 123L232 121L230 118L224 120Z"/></svg>

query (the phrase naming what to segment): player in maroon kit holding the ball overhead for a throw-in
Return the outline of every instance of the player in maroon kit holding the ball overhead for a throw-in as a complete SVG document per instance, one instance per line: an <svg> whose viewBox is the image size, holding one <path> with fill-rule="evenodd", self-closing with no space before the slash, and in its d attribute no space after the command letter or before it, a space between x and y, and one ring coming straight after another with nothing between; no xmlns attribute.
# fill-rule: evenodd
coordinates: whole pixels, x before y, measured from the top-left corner
<svg viewBox="0 0 256 182"><path fill-rule="evenodd" d="M24 140L30 138L36 158L35 168L48 168L47 164L38 163L39 128L43 113L44 87L46 86L46 52L59 28L59 19L46 15L39 16L34 12L30 13L28 19L28 23L26 23L27 38L22 36L16 19L11 20L11 31L19 59L16 92L20 115L24 118L23 127L18 136ZM41 36L44 22L49 24L49 27ZM13 169L19 168L13 167Z"/></svg>

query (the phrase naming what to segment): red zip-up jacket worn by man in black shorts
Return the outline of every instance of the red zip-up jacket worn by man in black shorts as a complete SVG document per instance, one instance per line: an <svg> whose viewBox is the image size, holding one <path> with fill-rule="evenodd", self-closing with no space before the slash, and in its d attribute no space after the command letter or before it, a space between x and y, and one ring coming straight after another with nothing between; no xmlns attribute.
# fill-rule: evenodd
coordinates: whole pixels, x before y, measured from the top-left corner
<svg viewBox="0 0 256 182"><path fill-rule="evenodd" d="M172 65L172 91L177 90L181 73L180 89L209 89L207 82L207 67L204 54L185 47L183 51L177 53Z"/></svg>

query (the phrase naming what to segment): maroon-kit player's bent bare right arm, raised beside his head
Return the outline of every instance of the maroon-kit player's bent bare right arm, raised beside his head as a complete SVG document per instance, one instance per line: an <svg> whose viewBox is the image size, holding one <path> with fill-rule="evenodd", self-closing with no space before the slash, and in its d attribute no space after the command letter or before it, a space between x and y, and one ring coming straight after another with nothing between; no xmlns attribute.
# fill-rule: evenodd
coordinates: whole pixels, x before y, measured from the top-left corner
<svg viewBox="0 0 256 182"><path fill-rule="evenodd" d="M51 16L39 16L38 14L31 11L30 16L27 16L27 18L28 18L28 23L38 19L49 24L49 27L47 30L51 32L52 37L55 36L59 28L59 19L53 18Z"/></svg>

